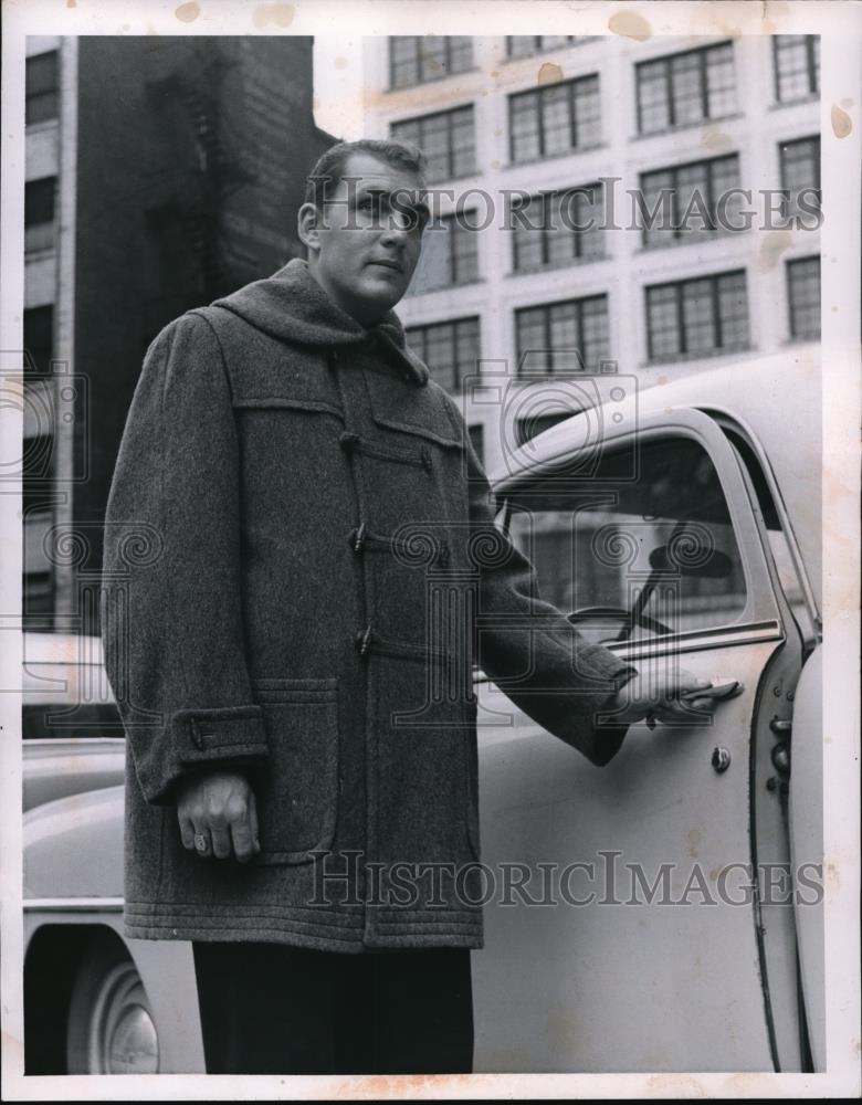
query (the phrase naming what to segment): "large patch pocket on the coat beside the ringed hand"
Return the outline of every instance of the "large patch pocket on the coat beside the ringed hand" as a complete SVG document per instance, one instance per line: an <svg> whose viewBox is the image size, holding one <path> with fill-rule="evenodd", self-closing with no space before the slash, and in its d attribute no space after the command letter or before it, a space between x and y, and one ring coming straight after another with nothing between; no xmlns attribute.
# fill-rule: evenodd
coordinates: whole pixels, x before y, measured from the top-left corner
<svg viewBox="0 0 862 1105"><path fill-rule="evenodd" d="M308 863L338 812L338 681L256 680L270 755L255 788L259 864Z"/></svg>

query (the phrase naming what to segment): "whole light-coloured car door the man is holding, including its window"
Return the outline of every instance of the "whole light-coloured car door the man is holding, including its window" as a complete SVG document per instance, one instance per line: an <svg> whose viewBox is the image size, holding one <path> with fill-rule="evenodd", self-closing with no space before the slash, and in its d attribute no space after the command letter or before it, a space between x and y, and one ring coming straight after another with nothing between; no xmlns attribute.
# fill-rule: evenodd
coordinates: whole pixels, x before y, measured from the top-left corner
<svg viewBox="0 0 862 1105"><path fill-rule="evenodd" d="M476 1070L800 1070L775 748L802 649L750 483L693 410L612 430L586 469L534 445L498 494L542 597L639 670L740 693L632 726L599 768L480 682Z"/></svg>

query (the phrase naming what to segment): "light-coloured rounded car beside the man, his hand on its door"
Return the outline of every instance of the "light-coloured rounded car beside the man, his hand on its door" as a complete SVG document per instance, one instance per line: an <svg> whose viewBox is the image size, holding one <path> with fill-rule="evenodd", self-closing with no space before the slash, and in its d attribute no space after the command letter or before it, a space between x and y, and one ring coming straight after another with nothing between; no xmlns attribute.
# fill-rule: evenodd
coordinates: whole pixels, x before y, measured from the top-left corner
<svg viewBox="0 0 862 1105"><path fill-rule="evenodd" d="M493 475L498 525L588 640L719 701L597 767L476 672L475 1070L822 1071L818 350L577 390ZM123 936L101 665L28 640L27 1071L202 1071L189 945Z"/></svg>

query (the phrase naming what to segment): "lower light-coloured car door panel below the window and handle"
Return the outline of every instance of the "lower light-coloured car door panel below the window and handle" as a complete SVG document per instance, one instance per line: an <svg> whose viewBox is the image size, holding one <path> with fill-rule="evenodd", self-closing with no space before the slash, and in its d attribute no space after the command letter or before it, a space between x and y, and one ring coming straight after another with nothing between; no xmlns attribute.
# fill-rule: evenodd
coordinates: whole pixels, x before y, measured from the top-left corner
<svg viewBox="0 0 862 1105"><path fill-rule="evenodd" d="M477 1035L476 1070L771 1067L747 887L750 717L775 649L772 641L687 656L694 674L730 674L745 686L718 707L721 736L717 725L651 733L640 724L606 768L527 719L484 740L483 707L500 713L507 699L482 687L483 860L497 899L474 964L476 1022L490 1029ZM712 764L719 745L730 757L721 774ZM572 863L592 863L595 878L571 876L570 897L595 891L610 901L572 904L558 886L554 905L506 905L503 865L512 862L554 864L557 880ZM646 904L669 862L667 881ZM616 895L606 893L612 866ZM529 897L540 898L540 883L530 882ZM715 904L700 904L698 883Z"/></svg>

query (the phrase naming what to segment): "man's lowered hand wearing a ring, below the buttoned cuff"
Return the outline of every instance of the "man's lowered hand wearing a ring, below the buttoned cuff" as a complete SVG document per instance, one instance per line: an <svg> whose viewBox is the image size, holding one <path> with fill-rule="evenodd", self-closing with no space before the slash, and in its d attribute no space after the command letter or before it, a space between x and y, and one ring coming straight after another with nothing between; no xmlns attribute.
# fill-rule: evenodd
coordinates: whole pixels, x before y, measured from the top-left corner
<svg viewBox="0 0 862 1105"><path fill-rule="evenodd" d="M254 793L242 775L213 771L181 782L177 817L182 846L202 857L248 863L261 850Z"/></svg>

